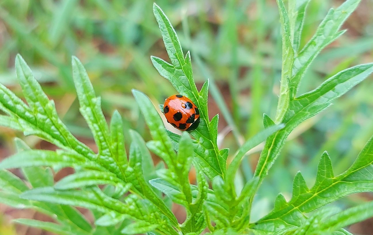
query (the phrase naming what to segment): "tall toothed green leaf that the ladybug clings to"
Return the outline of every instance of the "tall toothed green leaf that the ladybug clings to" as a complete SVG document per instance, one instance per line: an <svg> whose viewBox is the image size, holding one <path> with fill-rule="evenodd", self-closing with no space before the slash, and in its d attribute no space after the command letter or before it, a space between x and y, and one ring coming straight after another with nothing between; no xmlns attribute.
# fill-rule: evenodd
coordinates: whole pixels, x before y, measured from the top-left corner
<svg viewBox="0 0 373 235"><path fill-rule="evenodd" d="M222 175L224 177L223 170L225 171L225 169L220 168L218 159L221 158L221 156L217 143L216 141L211 140L210 132L213 132L214 130L211 130L209 125L210 121L207 113L207 99L200 96L197 87L195 86L192 75L190 53L187 53L184 59L184 53L182 52L178 36L167 19L167 16L164 15L163 11L156 4L153 5L153 11L162 33L164 45L172 63L169 64L157 57L151 57L153 65L158 72L164 76L164 78L172 83L173 87L175 87L179 94L190 98L200 109L200 124L196 130L191 131L192 137L197 140L195 154L198 158L194 163L200 165L210 179L213 179L216 175ZM206 85L204 89L207 88L208 85ZM207 95L207 92L205 94Z"/></svg>

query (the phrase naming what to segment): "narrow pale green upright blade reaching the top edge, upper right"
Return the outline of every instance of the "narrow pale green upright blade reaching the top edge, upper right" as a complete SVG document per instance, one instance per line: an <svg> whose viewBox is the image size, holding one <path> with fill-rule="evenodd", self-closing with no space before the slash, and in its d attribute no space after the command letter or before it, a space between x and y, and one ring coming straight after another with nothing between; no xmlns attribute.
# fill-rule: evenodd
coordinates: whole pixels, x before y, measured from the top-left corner
<svg viewBox="0 0 373 235"><path fill-rule="evenodd" d="M282 0L277 0L282 25L282 71L280 81L280 95L277 106L275 122L280 123L289 107L289 82L292 76L294 50L291 45L291 29L288 12Z"/></svg>

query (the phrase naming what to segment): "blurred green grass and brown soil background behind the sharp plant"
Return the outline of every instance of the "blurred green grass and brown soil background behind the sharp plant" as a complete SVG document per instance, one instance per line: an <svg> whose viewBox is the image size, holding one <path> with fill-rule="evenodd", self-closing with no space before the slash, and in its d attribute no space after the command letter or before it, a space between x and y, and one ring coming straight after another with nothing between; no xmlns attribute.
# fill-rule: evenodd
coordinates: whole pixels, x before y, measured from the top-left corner
<svg viewBox="0 0 373 235"><path fill-rule="evenodd" d="M314 34L329 8L342 2L311 0L301 46ZM72 83L70 58L76 55L84 63L96 93L102 97L105 115L110 117L118 109L126 129L136 129L149 140L131 89L143 91L154 104L163 103L164 98L175 94L150 62L151 55L167 58L152 3L153 0L1 0L0 82L20 94L14 69L15 56L20 53L46 93L55 100L59 115L72 133L94 148L90 130L79 114ZM276 1L157 0L156 3L169 16L184 51L191 51L197 87L206 78L210 79L210 117L220 113L220 147L230 147L232 155L242 140L263 128L263 113L275 115L281 69L281 29ZM348 31L328 46L309 69L301 93L342 69L373 62L372 12L373 1L361 0L343 26ZM292 133L261 187L253 219L271 209L278 192L290 197L290 182L298 170L309 185L313 184L323 151L329 152L336 173L350 166L373 134L372 91L370 77ZM233 132L229 132L231 129ZM0 158L13 153L12 140L16 136L35 148L53 149L37 138L22 137L21 133L2 128ZM238 185L251 177L259 150L256 148L242 164ZM358 194L337 205L350 206L369 199L373 199L372 195ZM13 217L12 211L0 209L6 218ZM0 220L0 234L14 234L1 221L7 220ZM357 233L373 234L373 222L371 226L367 223L358 225ZM22 229L17 230L22 234Z"/></svg>

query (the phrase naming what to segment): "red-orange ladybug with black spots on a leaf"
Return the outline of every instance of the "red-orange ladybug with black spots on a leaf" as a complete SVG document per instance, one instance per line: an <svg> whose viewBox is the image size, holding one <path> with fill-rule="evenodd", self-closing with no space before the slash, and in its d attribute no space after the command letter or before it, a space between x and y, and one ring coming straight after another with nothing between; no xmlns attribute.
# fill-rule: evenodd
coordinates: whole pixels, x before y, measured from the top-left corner
<svg viewBox="0 0 373 235"><path fill-rule="evenodd" d="M181 131L193 131L200 124L200 110L187 97L171 95L164 101L167 122Z"/></svg>

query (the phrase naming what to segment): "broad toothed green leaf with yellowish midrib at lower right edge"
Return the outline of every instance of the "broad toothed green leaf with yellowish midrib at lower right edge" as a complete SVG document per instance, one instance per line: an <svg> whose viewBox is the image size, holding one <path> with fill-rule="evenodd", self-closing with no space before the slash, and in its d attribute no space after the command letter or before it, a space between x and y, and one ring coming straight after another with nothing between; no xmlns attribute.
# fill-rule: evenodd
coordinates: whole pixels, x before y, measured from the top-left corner
<svg viewBox="0 0 373 235"><path fill-rule="evenodd" d="M367 142L354 164L344 173L333 176L327 153L320 159L315 185L308 189L298 173L294 178L292 199L286 202L278 197L275 209L253 227L275 232L273 228L301 226L303 213L316 210L348 194L373 191L373 137ZM272 228L272 229L271 229Z"/></svg>

